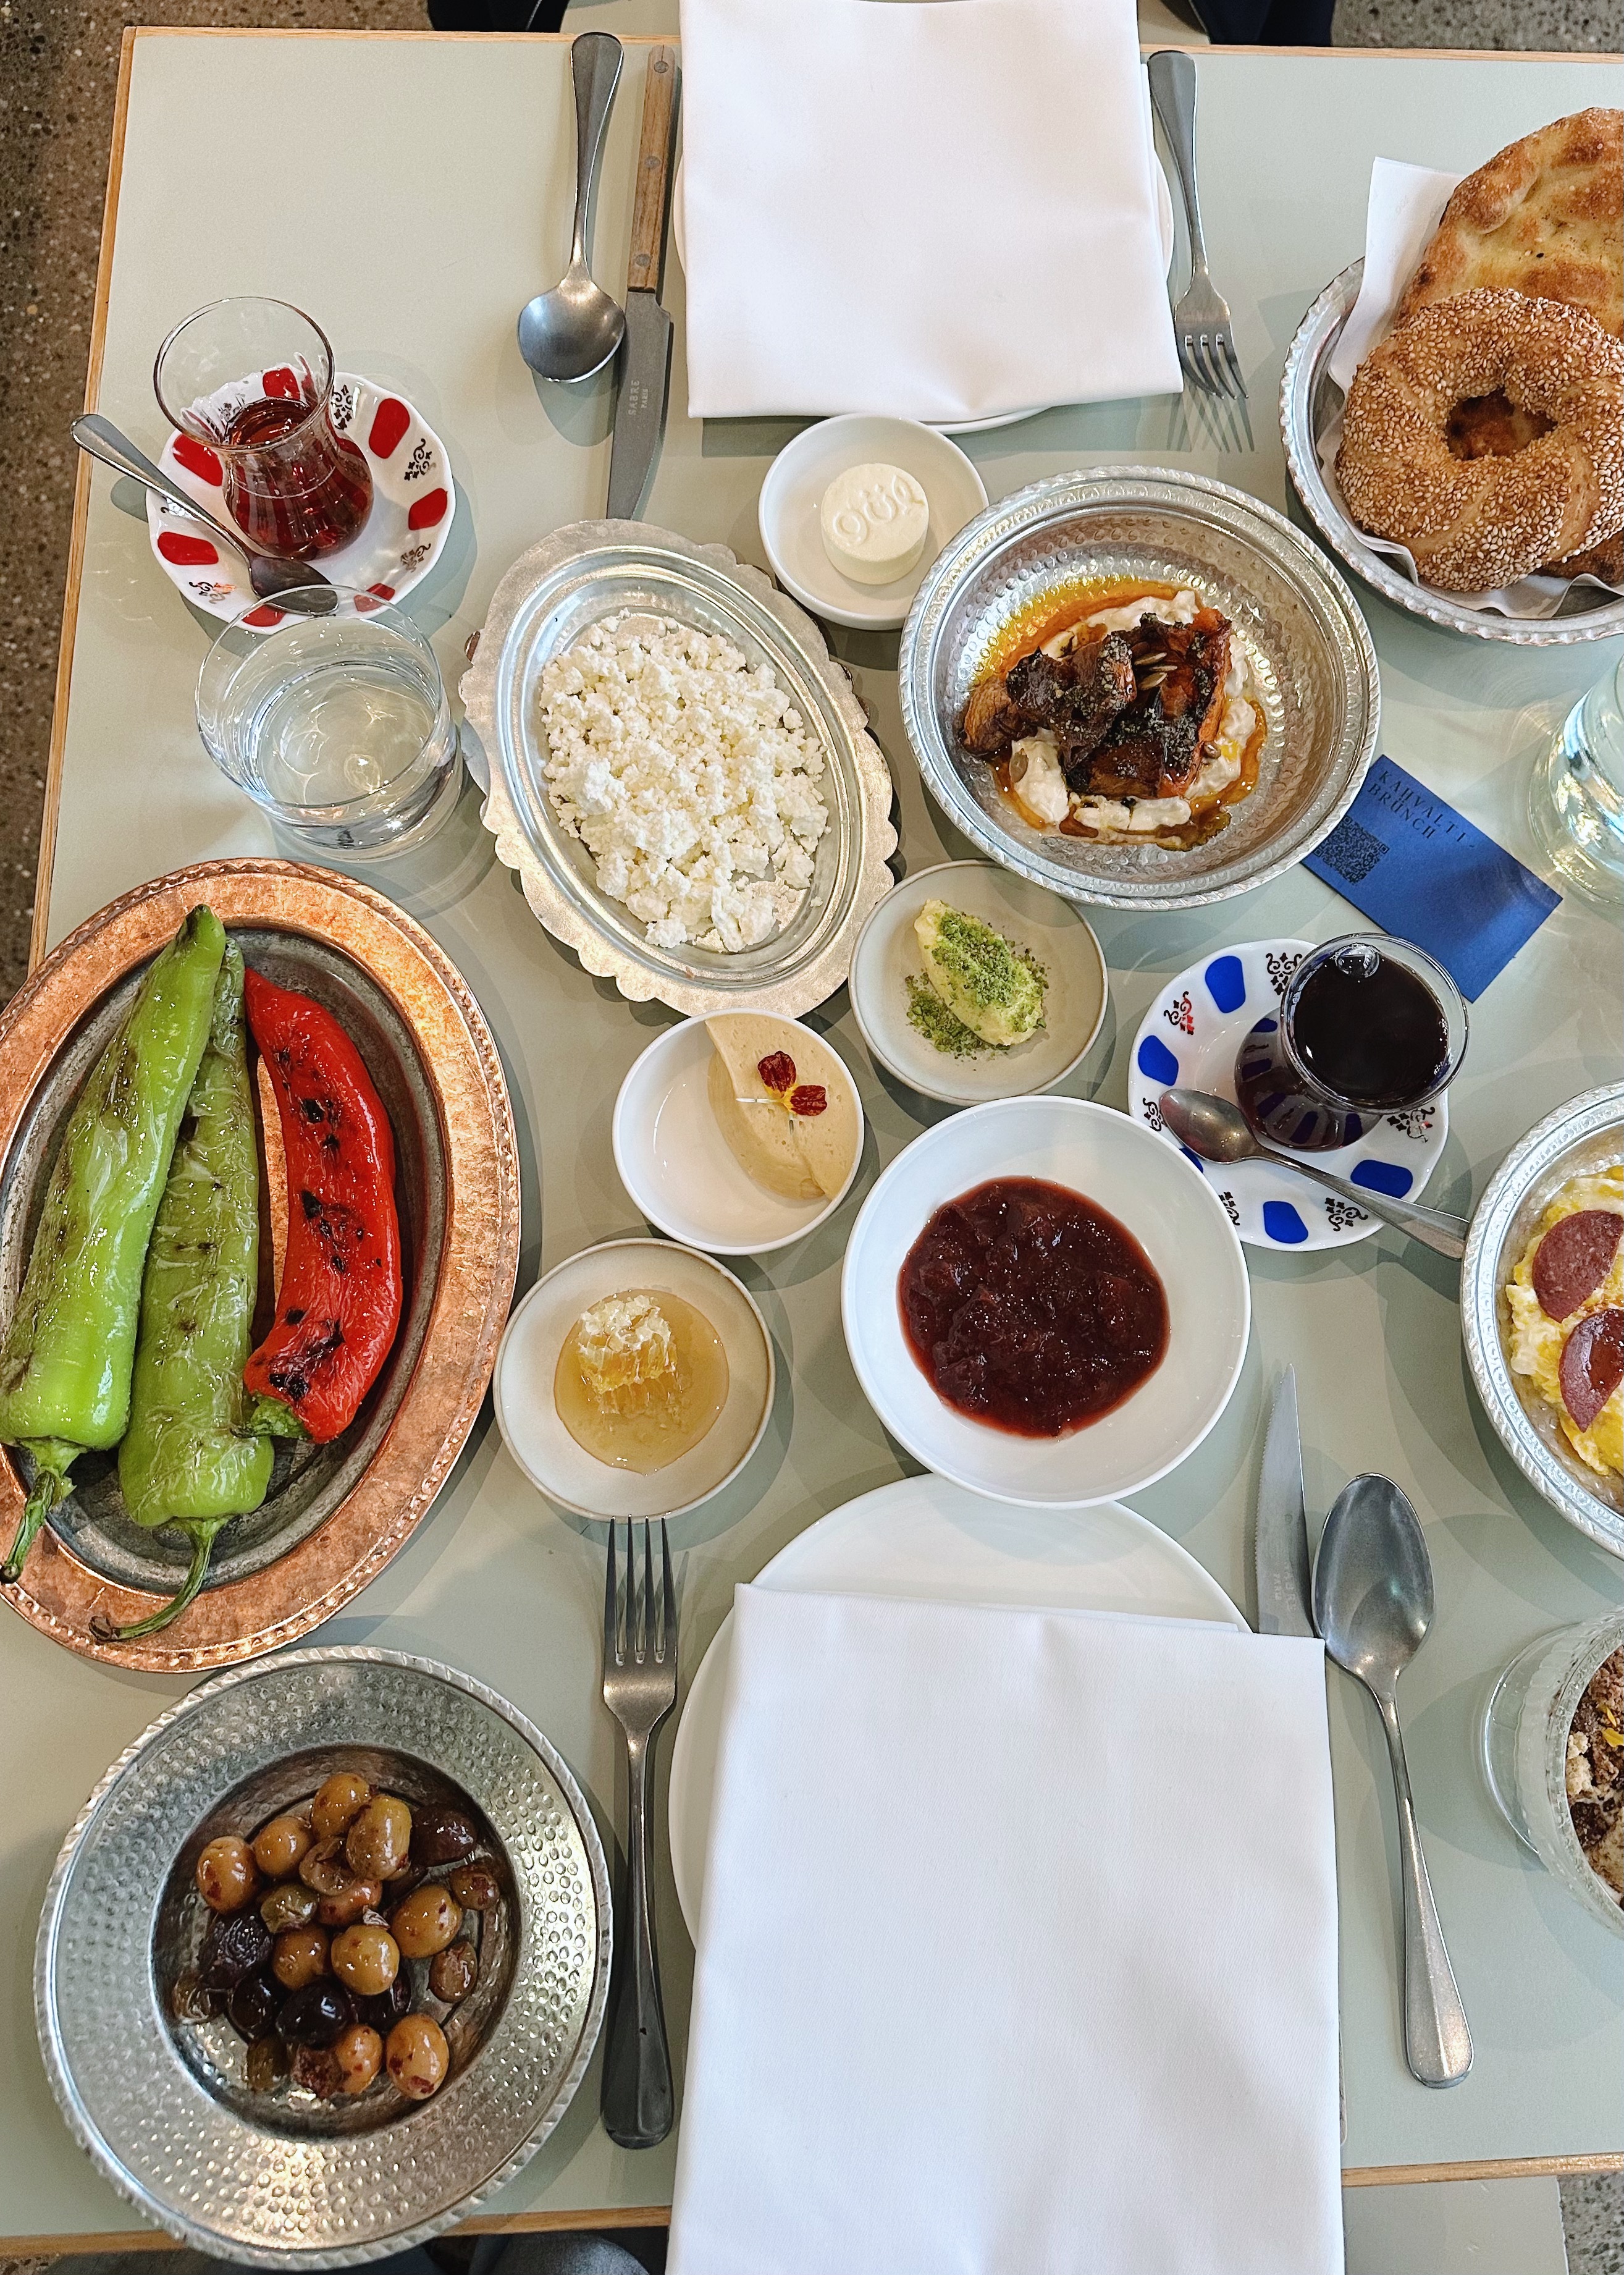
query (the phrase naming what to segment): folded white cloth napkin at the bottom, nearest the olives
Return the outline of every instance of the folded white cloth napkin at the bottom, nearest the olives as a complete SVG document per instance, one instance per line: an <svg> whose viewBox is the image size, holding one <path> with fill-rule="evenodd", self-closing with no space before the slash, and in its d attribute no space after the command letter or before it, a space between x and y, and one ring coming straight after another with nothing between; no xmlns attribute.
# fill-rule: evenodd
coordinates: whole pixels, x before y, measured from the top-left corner
<svg viewBox="0 0 1624 2275"><path fill-rule="evenodd" d="M1319 1643L739 1588L671 2275L1340 2275Z"/></svg>

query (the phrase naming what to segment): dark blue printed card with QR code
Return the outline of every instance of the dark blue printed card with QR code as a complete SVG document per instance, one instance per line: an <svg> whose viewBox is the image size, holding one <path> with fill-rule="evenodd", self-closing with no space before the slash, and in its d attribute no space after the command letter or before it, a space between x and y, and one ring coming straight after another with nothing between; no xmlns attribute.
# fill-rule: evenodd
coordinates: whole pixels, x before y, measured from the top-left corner
<svg viewBox="0 0 1624 2275"><path fill-rule="evenodd" d="M1390 758L1303 867L1435 956L1469 1003L1563 899Z"/></svg>

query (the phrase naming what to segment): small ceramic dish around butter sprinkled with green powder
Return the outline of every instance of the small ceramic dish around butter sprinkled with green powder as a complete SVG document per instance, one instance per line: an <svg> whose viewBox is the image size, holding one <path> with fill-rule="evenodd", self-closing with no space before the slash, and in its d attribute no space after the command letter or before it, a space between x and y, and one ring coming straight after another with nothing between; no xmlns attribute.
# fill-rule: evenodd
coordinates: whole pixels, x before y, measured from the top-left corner
<svg viewBox="0 0 1624 2275"><path fill-rule="evenodd" d="M1049 974L1044 1026L1010 1051L948 1058L908 1021L908 976L921 971L914 917L951 901L1030 949ZM1105 1017L1105 958L1092 924L1042 885L985 860L919 869L873 910L851 960L851 1008L883 1067L926 1099L980 1106L1053 1090L1089 1051Z"/></svg>

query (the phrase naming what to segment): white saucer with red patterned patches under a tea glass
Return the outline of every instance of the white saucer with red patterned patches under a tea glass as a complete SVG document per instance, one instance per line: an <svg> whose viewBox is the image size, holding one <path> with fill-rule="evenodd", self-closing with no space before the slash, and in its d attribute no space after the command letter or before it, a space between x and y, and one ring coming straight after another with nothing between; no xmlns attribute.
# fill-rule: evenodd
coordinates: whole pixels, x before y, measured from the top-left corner
<svg viewBox="0 0 1624 2275"><path fill-rule="evenodd" d="M446 444L403 396L375 380L341 371L332 382L332 423L364 453L373 471L373 510L357 537L316 564L334 585L400 601L439 560L457 507ZM189 496L230 528L221 494L221 462L191 435L171 435L159 466ZM164 498L146 496L146 526L159 569L196 607L232 623L243 617L268 632L282 621L275 607L252 607L248 562L216 544L202 521L189 521Z"/></svg>

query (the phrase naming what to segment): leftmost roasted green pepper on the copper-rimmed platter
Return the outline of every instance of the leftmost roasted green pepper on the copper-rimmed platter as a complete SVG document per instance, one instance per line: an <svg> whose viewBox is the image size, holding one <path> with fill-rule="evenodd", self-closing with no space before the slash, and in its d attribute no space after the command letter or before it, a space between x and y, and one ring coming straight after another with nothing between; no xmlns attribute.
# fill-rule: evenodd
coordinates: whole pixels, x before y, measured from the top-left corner
<svg viewBox="0 0 1624 2275"><path fill-rule="evenodd" d="M23 1292L0 1345L0 1445L34 1461L11 1556L68 1497L86 1447L118 1445L130 1420L141 1269L175 1131L209 1037L225 930L193 908L141 981L130 1012L68 1115Z"/></svg>

